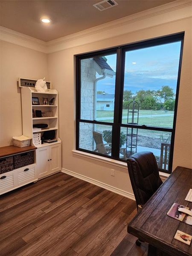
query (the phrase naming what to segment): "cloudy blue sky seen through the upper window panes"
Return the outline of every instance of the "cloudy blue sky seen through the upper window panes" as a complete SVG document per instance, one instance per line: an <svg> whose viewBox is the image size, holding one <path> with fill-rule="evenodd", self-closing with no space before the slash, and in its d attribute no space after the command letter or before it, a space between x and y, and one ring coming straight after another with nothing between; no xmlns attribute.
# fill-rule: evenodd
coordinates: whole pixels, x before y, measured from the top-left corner
<svg viewBox="0 0 192 256"><path fill-rule="evenodd" d="M180 42L126 52L124 90L158 90L169 85L176 91ZM106 56L116 70L116 54ZM98 81L97 90L115 92L115 77Z"/></svg>

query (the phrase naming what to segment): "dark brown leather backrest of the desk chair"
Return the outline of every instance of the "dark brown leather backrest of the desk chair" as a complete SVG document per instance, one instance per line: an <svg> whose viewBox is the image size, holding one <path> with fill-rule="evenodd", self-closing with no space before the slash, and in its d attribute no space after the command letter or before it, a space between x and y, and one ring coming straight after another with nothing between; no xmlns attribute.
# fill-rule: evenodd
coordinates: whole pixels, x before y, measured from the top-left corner
<svg viewBox="0 0 192 256"><path fill-rule="evenodd" d="M137 205L144 205L163 183L154 154L143 151L127 160L129 177Z"/></svg>

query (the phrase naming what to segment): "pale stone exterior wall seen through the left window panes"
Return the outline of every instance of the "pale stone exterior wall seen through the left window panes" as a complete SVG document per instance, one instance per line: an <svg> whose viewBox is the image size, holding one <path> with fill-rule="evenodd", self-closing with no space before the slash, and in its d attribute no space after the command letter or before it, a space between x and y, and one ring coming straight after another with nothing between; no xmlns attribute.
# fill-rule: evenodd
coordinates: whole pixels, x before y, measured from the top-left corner
<svg viewBox="0 0 192 256"><path fill-rule="evenodd" d="M93 120L94 82L96 70L92 68L93 59L81 60L81 119ZM93 151L93 124L81 123L79 147Z"/></svg>

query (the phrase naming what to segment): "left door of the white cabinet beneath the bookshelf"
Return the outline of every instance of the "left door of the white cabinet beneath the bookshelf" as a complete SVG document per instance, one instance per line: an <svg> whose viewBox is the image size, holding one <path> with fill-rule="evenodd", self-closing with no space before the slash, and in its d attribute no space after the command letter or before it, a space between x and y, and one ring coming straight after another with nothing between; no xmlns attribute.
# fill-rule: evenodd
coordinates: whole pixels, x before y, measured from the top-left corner
<svg viewBox="0 0 192 256"><path fill-rule="evenodd" d="M49 147L38 148L36 150L36 168L38 179L49 175L50 169Z"/></svg>

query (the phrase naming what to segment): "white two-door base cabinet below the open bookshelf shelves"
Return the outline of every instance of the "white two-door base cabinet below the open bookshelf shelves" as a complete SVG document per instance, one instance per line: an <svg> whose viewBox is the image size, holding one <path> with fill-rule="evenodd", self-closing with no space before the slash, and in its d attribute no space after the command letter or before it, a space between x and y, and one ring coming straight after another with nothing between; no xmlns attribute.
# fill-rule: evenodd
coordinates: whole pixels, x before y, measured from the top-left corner
<svg viewBox="0 0 192 256"><path fill-rule="evenodd" d="M61 143L36 150L38 179L61 171Z"/></svg>

